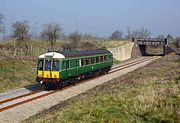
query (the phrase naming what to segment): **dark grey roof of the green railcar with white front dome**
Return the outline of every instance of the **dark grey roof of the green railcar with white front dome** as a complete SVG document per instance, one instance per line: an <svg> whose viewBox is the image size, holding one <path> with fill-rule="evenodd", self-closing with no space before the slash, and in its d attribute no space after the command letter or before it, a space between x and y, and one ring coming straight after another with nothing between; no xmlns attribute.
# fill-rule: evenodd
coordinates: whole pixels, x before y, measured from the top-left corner
<svg viewBox="0 0 180 123"><path fill-rule="evenodd" d="M45 54L39 56L39 58L46 58L51 56L53 58L71 58L71 57L81 57L81 56L91 56L111 53L106 49L98 50L80 50L80 51L49 51Z"/></svg>

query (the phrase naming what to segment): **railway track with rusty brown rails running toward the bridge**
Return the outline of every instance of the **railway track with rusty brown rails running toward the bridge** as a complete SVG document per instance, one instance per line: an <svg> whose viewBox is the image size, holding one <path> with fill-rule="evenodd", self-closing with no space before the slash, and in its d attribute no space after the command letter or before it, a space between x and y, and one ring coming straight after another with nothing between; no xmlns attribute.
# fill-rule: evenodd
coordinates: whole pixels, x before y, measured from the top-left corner
<svg viewBox="0 0 180 123"><path fill-rule="evenodd" d="M131 67L131 66L143 63L143 62L154 60L156 58L157 57L143 58L143 59L140 59L140 60L135 60L135 61L129 62L127 64L123 64L123 65L120 65L120 66L117 66L117 67L113 67L112 70L107 74L112 74L114 72L123 70L125 68ZM88 80L80 81L80 82L76 83L75 85L79 85L81 83L85 83L85 82L97 79L99 77L106 76L107 74L103 74L103 75L100 75L100 76L97 76L97 77L94 77L94 78L91 78L91 79L88 79ZM17 96L17 97L13 97L13 98L9 98L9 99L0 101L0 112L8 110L8 109L13 108L13 107L16 107L18 105L33 101L33 100L36 100L36 99L51 95L51 94L56 93L56 92L63 91L65 89L67 89L67 88L71 88L72 86L74 86L74 85L70 85L70 86L66 86L66 87L64 87L62 89L50 90L50 91L39 90L39 91L31 92L31 93L28 93L28 94L24 94L24 95L20 95L20 96Z"/></svg>

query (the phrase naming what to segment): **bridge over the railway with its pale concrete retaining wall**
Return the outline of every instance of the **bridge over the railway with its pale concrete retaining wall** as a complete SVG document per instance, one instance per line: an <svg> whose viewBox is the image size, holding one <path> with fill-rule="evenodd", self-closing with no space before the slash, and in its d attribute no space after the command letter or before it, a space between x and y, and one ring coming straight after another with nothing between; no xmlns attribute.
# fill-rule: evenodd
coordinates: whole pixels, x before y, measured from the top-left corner
<svg viewBox="0 0 180 123"><path fill-rule="evenodd" d="M132 41L119 47L110 48L109 50L113 53L115 59L123 61L148 55L146 53L148 46L160 46L163 51L160 55L166 55L174 51L168 46L166 38L132 38Z"/></svg>

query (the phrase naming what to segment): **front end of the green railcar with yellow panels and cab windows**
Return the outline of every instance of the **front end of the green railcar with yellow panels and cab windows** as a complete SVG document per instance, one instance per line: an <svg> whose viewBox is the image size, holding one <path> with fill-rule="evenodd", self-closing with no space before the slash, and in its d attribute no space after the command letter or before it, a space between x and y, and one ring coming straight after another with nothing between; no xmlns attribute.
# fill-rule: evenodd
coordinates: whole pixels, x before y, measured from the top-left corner
<svg viewBox="0 0 180 123"><path fill-rule="evenodd" d="M60 81L60 63L64 58L62 54L48 52L38 58L36 81L50 87Z"/></svg>

